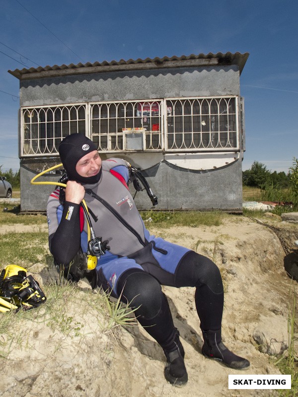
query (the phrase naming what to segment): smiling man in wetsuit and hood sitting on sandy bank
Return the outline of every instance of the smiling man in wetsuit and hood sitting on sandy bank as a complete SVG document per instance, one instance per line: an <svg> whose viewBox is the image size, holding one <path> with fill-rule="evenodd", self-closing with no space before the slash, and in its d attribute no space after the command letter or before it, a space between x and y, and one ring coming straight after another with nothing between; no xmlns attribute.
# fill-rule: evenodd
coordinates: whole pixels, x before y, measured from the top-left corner
<svg viewBox="0 0 298 397"><path fill-rule="evenodd" d="M247 368L249 361L222 342L224 291L218 267L194 251L149 234L128 190L129 172L124 160L101 161L95 144L79 133L64 138L59 153L69 181L63 205L59 191L48 200L49 246L55 263L67 269L74 280L79 277L76 266L73 270L69 264L77 260L79 252L87 251L86 222L80 205L84 199L95 235L109 245L96 270L86 275L92 287L109 288L113 296L122 294L123 301L138 308L138 321L165 353L167 381L183 385L188 376L179 332L161 285L195 287L203 355L230 368Z"/></svg>

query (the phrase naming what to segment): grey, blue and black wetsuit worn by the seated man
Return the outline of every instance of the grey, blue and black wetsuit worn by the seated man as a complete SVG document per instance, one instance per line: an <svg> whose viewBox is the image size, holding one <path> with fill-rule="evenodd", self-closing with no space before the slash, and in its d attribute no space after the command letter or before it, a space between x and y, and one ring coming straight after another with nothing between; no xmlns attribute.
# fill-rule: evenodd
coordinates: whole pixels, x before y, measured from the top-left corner
<svg viewBox="0 0 298 397"><path fill-rule="evenodd" d="M174 349L175 328L160 285L196 287L202 330L221 329L224 293L218 267L202 255L150 235L128 190L124 160L105 160L101 169L98 183L84 185L95 234L110 246L96 266L100 284L115 296L122 294L130 306L140 306L138 321L163 349ZM69 264L80 247L86 252L87 222L82 222L80 205L66 201L62 206L57 190L49 197L47 216L56 262Z"/></svg>

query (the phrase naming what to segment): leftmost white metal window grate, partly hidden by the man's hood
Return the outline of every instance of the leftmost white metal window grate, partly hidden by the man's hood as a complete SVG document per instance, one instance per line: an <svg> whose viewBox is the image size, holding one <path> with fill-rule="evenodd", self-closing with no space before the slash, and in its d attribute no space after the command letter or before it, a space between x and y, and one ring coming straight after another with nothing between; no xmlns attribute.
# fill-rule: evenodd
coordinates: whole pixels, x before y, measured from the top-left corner
<svg viewBox="0 0 298 397"><path fill-rule="evenodd" d="M65 136L86 131L86 104L23 108L21 153L23 156L57 154Z"/></svg>

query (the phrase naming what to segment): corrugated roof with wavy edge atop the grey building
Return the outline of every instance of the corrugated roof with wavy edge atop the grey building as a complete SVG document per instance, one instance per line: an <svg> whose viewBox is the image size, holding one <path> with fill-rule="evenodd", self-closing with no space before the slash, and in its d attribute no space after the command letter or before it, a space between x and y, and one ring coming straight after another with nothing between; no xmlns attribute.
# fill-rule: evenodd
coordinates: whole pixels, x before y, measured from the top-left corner
<svg viewBox="0 0 298 397"><path fill-rule="evenodd" d="M120 60L120 61L103 61L103 62L94 62L91 64L87 62L86 64L70 64L70 65L54 65L54 66L38 66L30 67L29 69L15 69L8 70L10 74L15 76L16 78L22 79L31 79L31 78L42 78L42 77L51 77L58 75L66 75L66 74L84 74L84 73L94 73L94 72L104 72L104 71L119 71L119 70L132 70L132 69L156 69L163 67L183 67L183 66L227 66L227 65L237 65L239 66L239 72L241 71L246 63L246 60L249 56L249 53L235 53L232 54L230 52L222 54L212 54L209 53L199 54L199 55L182 55L181 57L173 56L171 58L163 57L163 58L146 58L145 60L137 59L128 61Z"/></svg>

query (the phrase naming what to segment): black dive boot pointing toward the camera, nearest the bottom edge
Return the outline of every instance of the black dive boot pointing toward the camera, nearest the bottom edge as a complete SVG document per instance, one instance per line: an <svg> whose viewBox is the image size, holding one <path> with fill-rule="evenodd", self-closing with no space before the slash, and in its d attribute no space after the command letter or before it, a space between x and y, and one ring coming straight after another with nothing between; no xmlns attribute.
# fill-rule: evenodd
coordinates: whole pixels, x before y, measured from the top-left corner
<svg viewBox="0 0 298 397"><path fill-rule="evenodd" d="M182 386L188 381L188 375L184 365L184 349L179 339L179 333L175 337L176 349L163 350L167 360L164 369L165 379L174 386Z"/></svg>

